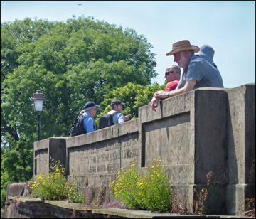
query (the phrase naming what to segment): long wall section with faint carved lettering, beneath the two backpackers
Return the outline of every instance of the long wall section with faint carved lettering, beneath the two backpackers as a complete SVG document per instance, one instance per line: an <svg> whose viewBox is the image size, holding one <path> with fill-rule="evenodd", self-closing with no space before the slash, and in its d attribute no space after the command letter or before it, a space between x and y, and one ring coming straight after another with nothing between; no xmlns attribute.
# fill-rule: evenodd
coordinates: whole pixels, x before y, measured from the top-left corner
<svg viewBox="0 0 256 219"><path fill-rule="evenodd" d="M139 165L139 121L117 124L66 139L68 181L78 181L80 191L87 184L107 186L122 166ZM113 177L114 176L114 177Z"/></svg>

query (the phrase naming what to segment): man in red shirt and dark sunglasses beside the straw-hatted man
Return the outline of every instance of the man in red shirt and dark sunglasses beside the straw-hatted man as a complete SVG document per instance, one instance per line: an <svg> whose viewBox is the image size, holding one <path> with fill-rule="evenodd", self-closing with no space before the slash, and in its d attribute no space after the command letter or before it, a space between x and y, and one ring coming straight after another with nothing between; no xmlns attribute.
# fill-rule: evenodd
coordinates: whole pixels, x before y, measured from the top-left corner
<svg viewBox="0 0 256 219"><path fill-rule="evenodd" d="M168 68L166 68L165 76L167 80L167 84L165 87L165 91L169 92L171 90L175 90L178 86L178 81L181 78L181 68L179 68L177 65L171 65ZM152 110L156 111L156 108L158 107L159 98L153 97L151 102L149 104L151 105Z"/></svg>

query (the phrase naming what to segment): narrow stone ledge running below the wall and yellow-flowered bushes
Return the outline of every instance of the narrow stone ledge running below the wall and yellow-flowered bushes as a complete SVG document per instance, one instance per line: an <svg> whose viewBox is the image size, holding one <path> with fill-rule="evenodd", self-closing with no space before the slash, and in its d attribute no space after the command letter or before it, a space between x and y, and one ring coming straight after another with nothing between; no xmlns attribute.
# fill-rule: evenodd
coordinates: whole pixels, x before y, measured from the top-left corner
<svg viewBox="0 0 256 219"><path fill-rule="evenodd" d="M31 197L8 197L11 200L20 201L21 203L46 203L48 205L54 205L59 208L68 208L75 210L89 210L91 213L113 215L122 218L241 218L235 215L180 215L175 213L152 213L148 210L127 210L121 208L100 208L90 207L81 203L68 203L68 201L51 201L41 200L41 198Z"/></svg>

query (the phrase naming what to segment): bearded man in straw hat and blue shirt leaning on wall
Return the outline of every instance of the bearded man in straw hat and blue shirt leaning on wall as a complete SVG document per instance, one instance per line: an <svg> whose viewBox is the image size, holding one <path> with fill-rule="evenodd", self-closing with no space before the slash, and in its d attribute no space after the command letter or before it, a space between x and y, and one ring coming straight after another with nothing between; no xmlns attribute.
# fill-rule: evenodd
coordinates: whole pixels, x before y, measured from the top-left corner
<svg viewBox="0 0 256 219"><path fill-rule="evenodd" d="M186 40L173 44L171 52L166 55L174 55L174 62L183 68L183 73L176 90L157 91L154 93L156 99L173 97L199 87L223 87L223 80L216 66L206 58L195 55L199 50L198 46L191 45Z"/></svg>

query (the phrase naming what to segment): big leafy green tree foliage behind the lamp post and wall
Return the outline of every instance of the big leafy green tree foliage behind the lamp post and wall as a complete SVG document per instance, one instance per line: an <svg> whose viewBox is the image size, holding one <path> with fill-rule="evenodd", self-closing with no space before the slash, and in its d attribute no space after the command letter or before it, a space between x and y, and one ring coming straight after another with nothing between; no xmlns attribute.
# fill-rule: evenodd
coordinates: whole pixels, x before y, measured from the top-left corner
<svg viewBox="0 0 256 219"><path fill-rule="evenodd" d="M148 103L146 94L139 100L139 90L156 77L151 47L132 29L90 17L1 23L1 200L7 183L33 176L33 93L41 90L46 98L41 139L68 137L90 100L103 112L110 98L120 97L127 102L124 112L137 117Z"/></svg>

